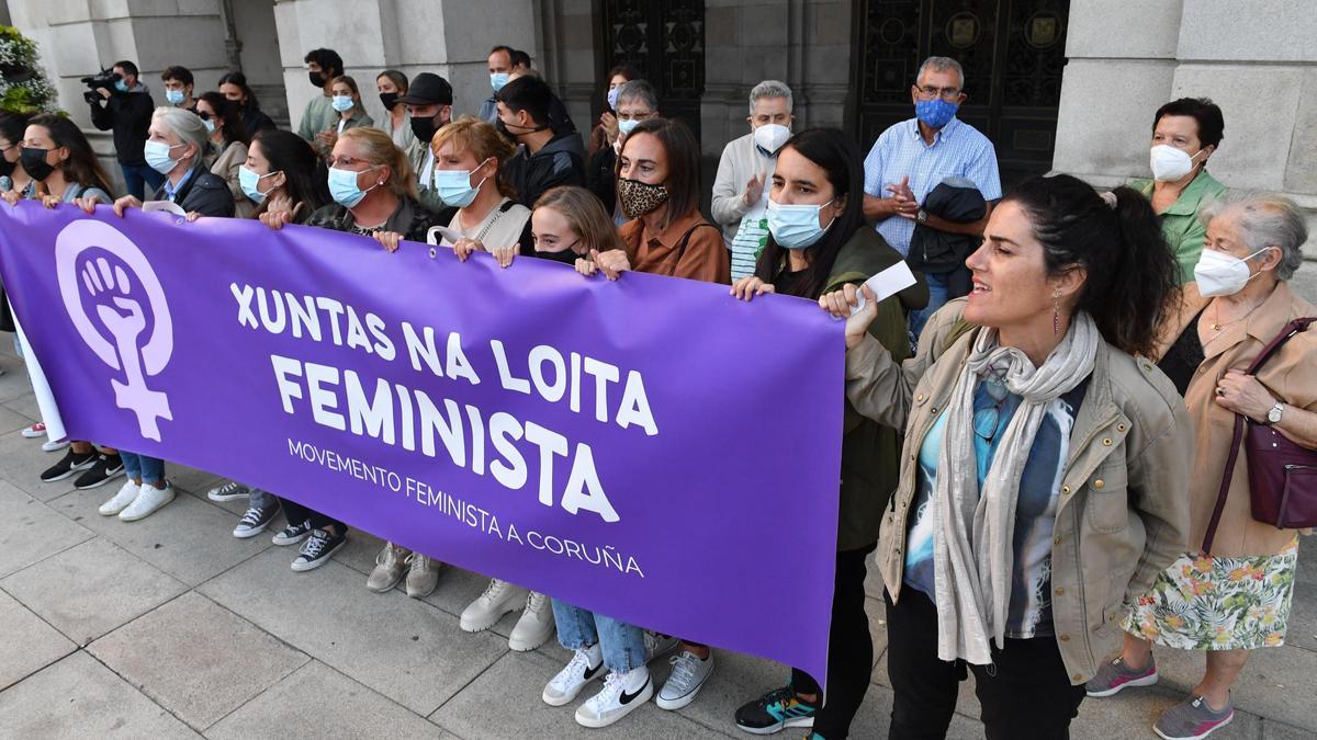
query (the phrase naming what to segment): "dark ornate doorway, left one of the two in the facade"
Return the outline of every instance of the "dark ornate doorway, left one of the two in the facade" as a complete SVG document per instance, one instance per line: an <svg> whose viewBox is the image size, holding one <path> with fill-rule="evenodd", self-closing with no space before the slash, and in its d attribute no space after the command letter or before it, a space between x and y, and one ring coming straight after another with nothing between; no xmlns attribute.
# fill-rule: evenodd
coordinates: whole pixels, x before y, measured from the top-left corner
<svg viewBox="0 0 1317 740"><path fill-rule="evenodd" d="M703 0L601 0L603 34L598 80L616 65L631 65L658 90L661 112L681 119L699 140L699 97L705 93ZM602 93L602 86L599 92ZM591 96L598 117L602 95Z"/></svg>

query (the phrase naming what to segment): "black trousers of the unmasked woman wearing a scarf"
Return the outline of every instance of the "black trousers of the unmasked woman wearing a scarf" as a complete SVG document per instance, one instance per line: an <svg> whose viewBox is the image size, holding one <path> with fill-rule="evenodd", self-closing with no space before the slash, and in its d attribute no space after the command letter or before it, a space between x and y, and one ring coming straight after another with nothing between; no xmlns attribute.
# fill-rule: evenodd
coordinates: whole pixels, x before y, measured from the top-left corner
<svg viewBox="0 0 1317 740"><path fill-rule="evenodd" d="M938 608L922 591L906 586L901 603L888 604L888 678L892 740L947 736L956 711L965 664L938 660ZM988 740L1030 737L1065 740L1084 700L1084 686L1072 686L1055 637L1006 639L992 647L992 665L971 665L980 719ZM824 735L827 737L827 735Z"/></svg>

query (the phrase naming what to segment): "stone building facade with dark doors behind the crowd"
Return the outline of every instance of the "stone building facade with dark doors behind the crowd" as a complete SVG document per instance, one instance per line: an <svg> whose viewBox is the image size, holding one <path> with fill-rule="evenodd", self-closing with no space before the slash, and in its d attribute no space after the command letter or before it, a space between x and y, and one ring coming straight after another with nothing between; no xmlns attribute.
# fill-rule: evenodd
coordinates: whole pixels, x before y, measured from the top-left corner
<svg viewBox="0 0 1317 740"><path fill-rule="evenodd" d="M756 82L792 87L797 128L840 126L867 150L913 115L915 68L940 54L965 66L961 119L993 140L1008 187L1048 170L1098 186L1146 176L1152 113L1192 95L1225 111L1218 179L1317 212L1317 13L1305 0L8 0L3 12L41 43L84 125L78 79L126 58L157 92L169 65L191 68L198 91L241 68L295 126L319 95L302 63L317 46L337 50L363 92L385 68L435 71L453 83L454 111L474 112L490 96L486 54L506 43L531 54L581 129L602 109L607 70L641 68L661 112L699 134L711 182L723 145L748 130ZM374 95L363 101L383 116ZM1317 267L1297 282L1317 298Z"/></svg>

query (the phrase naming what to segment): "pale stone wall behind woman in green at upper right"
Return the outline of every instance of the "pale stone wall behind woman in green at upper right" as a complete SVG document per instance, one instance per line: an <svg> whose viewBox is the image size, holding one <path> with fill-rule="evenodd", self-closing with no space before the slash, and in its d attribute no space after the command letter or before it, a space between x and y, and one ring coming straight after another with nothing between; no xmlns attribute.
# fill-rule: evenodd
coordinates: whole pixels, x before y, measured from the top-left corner
<svg viewBox="0 0 1317 740"><path fill-rule="evenodd" d="M1054 167L1096 184L1147 176L1152 116L1206 96L1225 115L1212 174L1308 213L1317 300L1317 13L1304 0L1073 0Z"/></svg>

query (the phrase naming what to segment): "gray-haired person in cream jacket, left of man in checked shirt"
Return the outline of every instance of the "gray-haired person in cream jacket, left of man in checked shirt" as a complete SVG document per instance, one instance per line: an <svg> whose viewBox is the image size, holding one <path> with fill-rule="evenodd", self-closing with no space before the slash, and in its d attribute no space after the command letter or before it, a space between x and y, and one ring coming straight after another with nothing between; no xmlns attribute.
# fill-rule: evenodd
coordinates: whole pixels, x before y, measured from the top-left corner
<svg viewBox="0 0 1317 740"><path fill-rule="evenodd" d="M764 211L766 183L777 166L777 151L792 138L792 88L764 80L749 91L749 133L723 147L714 179L714 221L732 253L732 282L752 275L768 238Z"/></svg>

